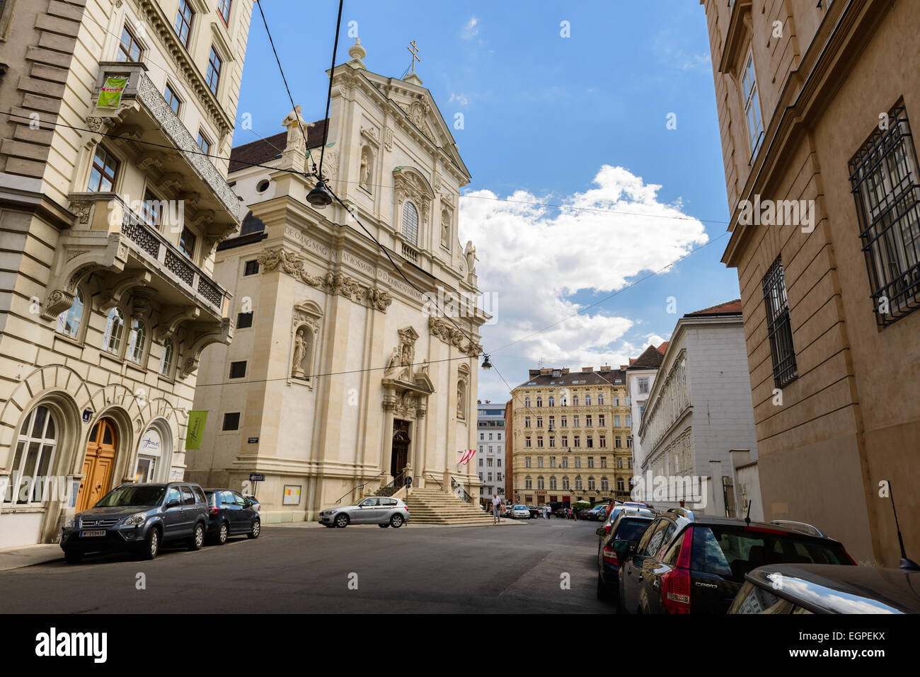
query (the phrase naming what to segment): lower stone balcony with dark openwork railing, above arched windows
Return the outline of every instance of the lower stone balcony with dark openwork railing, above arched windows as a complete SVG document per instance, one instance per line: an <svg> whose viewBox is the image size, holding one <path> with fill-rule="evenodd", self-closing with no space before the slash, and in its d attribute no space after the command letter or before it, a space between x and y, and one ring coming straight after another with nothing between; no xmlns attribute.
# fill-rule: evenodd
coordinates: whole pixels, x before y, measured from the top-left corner
<svg viewBox="0 0 920 677"><path fill-rule="evenodd" d="M184 330L189 352L181 376L197 369L206 346L230 343L233 326L226 315L231 294L210 274L115 193L72 193L70 198L78 205L77 224L58 241L41 306L44 319L53 320L73 305L77 284L96 274L102 279L101 310L118 304L149 310L156 340Z"/></svg>

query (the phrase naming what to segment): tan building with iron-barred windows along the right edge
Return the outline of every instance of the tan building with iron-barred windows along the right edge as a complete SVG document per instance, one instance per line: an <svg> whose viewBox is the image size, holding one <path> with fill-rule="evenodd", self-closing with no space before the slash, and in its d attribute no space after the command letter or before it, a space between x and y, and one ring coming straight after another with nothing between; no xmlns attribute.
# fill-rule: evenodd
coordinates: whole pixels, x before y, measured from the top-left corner
<svg viewBox="0 0 920 677"><path fill-rule="evenodd" d="M765 518L897 566L892 490L920 549L920 4L701 5Z"/></svg>

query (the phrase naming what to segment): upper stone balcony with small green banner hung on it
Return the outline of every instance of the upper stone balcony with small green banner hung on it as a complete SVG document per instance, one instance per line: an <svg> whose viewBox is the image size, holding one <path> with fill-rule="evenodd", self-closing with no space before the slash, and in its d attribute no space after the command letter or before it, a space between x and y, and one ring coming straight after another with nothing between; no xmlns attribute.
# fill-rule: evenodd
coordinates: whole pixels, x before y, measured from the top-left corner
<svg viewBox="0 0 920 677"><path fill-rule="evenodd" d="M137 164L154 176L157 185L207 215L205 236L224 239L239 225L236 194L217 167L201 155L196 138L169 107L146 70L144 63L99 63L86 117L88 129L121 136L121 143L137 155ZM96 105L98 92L109 77L128 80L118 109Z"/></svg>

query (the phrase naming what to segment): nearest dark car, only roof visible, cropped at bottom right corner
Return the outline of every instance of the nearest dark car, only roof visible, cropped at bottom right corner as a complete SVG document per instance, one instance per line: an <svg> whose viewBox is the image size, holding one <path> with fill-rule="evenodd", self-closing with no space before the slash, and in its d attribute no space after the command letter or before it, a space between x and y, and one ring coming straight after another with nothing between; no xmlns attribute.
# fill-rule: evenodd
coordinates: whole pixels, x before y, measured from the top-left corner
<svg viewBox="0 0 920 677"><path fill-rule="evenodd" d="M729 614L920 614L920 571L780 564L744 577Z"/></svg>

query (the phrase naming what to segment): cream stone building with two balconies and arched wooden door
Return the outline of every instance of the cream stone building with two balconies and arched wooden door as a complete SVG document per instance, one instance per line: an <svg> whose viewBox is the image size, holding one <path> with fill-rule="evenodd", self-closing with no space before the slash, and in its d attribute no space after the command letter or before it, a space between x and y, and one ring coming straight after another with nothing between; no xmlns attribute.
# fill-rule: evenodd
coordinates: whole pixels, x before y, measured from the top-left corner
<svg viewBox="0 0 920 677"><path fill-rule="evenodd" d="M213 255L251 10L0 3L0 545L184 474L201 350L233 334Z"/></svg>

